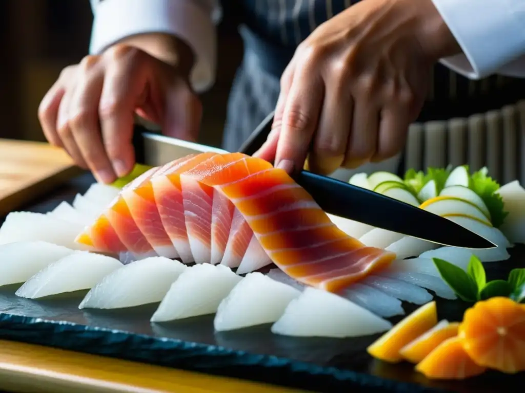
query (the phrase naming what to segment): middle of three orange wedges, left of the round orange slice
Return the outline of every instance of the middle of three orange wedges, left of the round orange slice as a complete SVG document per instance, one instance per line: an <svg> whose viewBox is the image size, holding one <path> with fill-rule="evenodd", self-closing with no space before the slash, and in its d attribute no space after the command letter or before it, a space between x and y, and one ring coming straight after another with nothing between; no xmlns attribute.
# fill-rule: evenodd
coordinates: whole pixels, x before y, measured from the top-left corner
<svg viewBox="0 0 525 393"><path fill-rule="evenodd" d="M440 321L434 328L417 337L414 341L405 345L399 353L407 361L417 364L421 362L430 352L451 337L458 334L459 322Z"/></svg>

